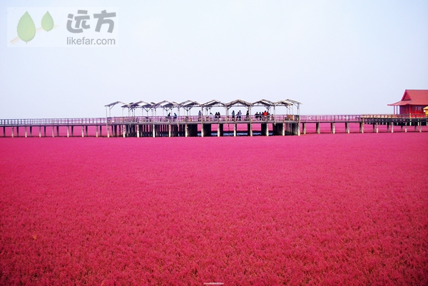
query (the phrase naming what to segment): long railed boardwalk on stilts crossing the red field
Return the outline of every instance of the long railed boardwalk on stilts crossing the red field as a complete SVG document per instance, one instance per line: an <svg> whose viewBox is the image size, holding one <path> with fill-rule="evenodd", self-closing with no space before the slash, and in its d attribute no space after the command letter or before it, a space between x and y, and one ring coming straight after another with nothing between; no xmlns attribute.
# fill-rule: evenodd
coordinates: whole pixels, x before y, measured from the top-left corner
<svg viewBox="0 0 428 286"><path fill-rule="evenodd" d="M427 116L121 116L0 119L3 137L287 136L307 133L428 132Z"/></svg>

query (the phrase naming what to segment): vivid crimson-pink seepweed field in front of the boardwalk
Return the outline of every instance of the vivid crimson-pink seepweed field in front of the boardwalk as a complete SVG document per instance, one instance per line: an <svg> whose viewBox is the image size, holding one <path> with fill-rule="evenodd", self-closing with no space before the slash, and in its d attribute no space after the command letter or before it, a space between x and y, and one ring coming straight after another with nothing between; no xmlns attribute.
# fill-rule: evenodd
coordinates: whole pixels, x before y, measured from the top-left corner
<svg viewBox="0 0 428 286"><path fill-rule="evenodd" d="M428 133L1 138L1 285L427 285Z"/></svg>

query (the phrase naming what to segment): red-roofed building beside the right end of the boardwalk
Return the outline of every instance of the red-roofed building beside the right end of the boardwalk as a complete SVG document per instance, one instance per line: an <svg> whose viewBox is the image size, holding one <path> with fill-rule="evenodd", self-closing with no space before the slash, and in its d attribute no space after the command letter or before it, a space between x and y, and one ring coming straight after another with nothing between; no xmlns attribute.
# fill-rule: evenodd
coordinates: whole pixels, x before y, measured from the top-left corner
<svg viewBox="0 0 428 286"><path fill-rule="evenodd" d="M394 114L424 114L424 108L428 106L428 90L406 89L401 101L388 104L394 106ZM399 109L395 106L399 106Z"/></svg>

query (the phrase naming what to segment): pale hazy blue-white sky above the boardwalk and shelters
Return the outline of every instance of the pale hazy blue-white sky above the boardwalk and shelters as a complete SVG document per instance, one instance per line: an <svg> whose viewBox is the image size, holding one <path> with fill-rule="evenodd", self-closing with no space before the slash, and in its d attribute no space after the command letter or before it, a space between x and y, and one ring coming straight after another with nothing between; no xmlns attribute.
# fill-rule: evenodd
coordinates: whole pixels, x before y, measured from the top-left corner
<svg viewBox="0 0 428 286"><path fill-rule="evenodd" d="M8 7L80 6L118 8L118 47L8 47ZM302 114L392 113L405 89L428 89L427 0L2 0L0 11L0 118L237 98L290 98Z"/></svg>

